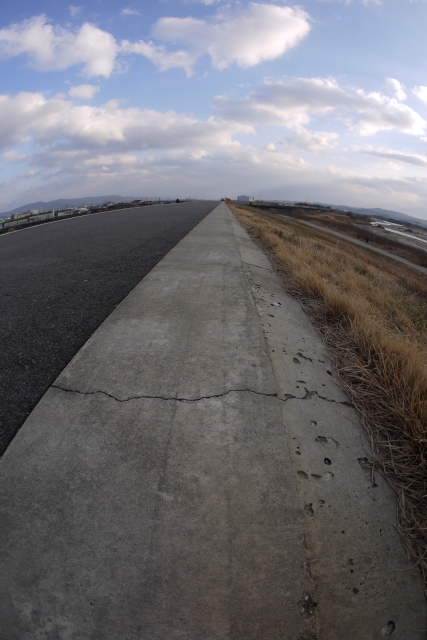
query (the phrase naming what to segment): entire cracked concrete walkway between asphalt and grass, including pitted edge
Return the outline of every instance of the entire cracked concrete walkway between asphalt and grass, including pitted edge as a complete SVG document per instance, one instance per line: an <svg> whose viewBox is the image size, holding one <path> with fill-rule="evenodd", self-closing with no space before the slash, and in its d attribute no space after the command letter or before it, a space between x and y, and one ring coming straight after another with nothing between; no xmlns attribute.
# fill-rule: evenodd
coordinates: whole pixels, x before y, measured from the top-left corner
<svg viewBox="0 0 427 640"><path fill-rule="evenodd" d="M109 316L0 461L1 640L425 637L298 309L222 204Z"/></svg>

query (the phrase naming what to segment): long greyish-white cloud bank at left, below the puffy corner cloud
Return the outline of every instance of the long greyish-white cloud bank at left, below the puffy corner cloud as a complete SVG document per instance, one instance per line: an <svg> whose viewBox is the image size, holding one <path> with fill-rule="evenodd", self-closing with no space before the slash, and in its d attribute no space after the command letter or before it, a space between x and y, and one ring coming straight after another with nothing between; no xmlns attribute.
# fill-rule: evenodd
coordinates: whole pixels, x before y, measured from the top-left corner
<svg viewBox="0 0 427 640"><path fill-rule="evenodd" d="M41 93L0 95L0 146L8 147L31 135L35 143L115 151L221 147L235 145L232 136L250 131L247 125L206 121L174 111L121 108L118 101L101 107L76 106L63 97Z"/></svg>

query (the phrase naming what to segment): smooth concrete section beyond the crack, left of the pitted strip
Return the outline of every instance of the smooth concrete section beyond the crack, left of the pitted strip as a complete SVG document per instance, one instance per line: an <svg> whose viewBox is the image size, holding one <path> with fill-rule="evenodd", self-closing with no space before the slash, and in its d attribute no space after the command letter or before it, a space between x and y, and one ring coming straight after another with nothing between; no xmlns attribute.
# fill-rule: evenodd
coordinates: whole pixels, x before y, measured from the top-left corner
<svg viewBox="0 0 427 640"><path fill-rule="evenodd" d="M56 385L120 399L200 398L243 388L276 393L231 227L218 216L151 271Z"/></svg>

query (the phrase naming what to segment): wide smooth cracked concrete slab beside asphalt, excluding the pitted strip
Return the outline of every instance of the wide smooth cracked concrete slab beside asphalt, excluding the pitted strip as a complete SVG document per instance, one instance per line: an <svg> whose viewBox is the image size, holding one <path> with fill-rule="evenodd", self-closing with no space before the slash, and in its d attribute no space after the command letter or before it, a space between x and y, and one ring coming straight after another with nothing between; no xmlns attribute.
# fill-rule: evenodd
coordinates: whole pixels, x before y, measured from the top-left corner
<svg viewBox="0 0 427 640"><path fill-rule="evenodd" d="M315 637L282 404L221 205L0 461L1 640Z"/></svg>

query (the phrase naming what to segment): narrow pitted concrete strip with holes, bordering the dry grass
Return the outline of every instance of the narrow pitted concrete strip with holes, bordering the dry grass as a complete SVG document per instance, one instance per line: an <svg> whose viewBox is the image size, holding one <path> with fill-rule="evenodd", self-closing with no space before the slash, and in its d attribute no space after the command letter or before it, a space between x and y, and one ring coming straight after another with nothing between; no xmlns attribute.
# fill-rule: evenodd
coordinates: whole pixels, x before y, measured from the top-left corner
<svg viewBox="0 0 427 640"><path fill-rule="evenodd" d="M427 637L421 572L395 529L394 495L360 461L370 446L320 337L233 222L282 399L321 640Z"/></svg>

